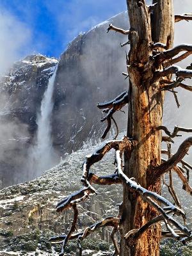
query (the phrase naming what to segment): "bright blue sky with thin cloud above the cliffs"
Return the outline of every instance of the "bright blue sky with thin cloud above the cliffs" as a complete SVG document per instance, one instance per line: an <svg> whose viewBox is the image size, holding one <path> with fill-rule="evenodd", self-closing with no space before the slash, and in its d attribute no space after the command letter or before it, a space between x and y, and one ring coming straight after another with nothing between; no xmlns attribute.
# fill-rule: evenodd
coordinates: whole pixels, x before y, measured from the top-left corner
<svg viewBox="0 0 192 256"><path fill-rule="evenodd" d="M15 20L12 26L21 26L19 33L29 33L17 49L20 54L59 57L79 32L124 11L126 5L124 0L0 0L0 8Z"/></svg>

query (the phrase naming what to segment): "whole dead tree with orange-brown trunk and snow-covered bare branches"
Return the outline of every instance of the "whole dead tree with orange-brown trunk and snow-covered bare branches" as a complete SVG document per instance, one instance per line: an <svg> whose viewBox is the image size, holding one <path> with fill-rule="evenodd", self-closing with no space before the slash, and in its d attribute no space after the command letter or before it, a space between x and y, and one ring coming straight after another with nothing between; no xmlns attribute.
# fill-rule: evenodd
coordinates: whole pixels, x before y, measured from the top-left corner
<svg viewBox="0 0 192 256"><path fill-rule="evenodd" d="M129 77L129 91L120 93L109 102L98 104L98 108L106 113L101 120L107 122L102 138L108 134L111 120L116 125L113 114L128 104L127 136L122 140L107 141L93 154L86 156L81 177L83 187L58 203L58 212L70 208L74 211L74 221L68 234L50 239L52 243L62 244L60 256L64 255L65 246L70 239L77 239L81 256L81 241L103 227L113 227L113 256L158 256L162 235L173 237L184 244L192 240L192 231L172 217L177 214L185 220L185 213L173 188L172 171L179 175L183 189L192 195L192 188L189 185L189 169L192 170L192 166L183 160L192 146L192 136L182 142L175 154L171 153L170 144L167 150L161 150L161 141L173 142L173 138L180 136L178 132L192 132L192 129L177 126L170 132L162 125L164 91L169 90L173 93L177 106L179 103L174 88L180 86L192 92L192 86L182 83L184 79L192 77L191 65L186 69L173 65L192 54L192 45L173 47L174 22L192 20L192 15L174 17L173 0L154 0L151 6L147 6L145 0L127 0L127 8L130 30L109 24L108 32L114 30L129 36L129 41L122 44L130 44L127 56L128 73L123 73L126 78ZM175 57L182 51L184 54ZM174 80L172 74L175 74ZM117 125L116 128L118 133ZM162 136L162 130L168 136ZM91 173L92 165L100 161L111 149L115 149L114 172L101 177ZM161 154L166 154L168 160L161 159ZM177 206L159 195L161 177L167 172L170 184L164 184L168 186ZM75 233L77 204L88 200L89 196L96 193L94 184L122 184L124 194L119 213ZM162 221L166 230L161 232ZM120 246L115 238L117 232L120 234Z"/></svg>

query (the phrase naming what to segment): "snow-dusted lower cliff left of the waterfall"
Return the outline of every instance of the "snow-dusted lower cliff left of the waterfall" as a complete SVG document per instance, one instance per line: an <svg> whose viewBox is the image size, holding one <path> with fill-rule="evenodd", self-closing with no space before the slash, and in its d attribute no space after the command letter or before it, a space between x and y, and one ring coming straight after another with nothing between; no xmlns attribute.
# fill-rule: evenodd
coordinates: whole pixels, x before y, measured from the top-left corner
<svg viewBox="0 0 192 256"><path fill-rule="evenodd" d="M42 95L57 63L40 54L28 56L14 63L1 79L0 187L31 178L28 148L35 136Z"/></svg>

